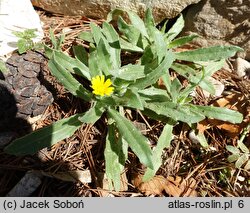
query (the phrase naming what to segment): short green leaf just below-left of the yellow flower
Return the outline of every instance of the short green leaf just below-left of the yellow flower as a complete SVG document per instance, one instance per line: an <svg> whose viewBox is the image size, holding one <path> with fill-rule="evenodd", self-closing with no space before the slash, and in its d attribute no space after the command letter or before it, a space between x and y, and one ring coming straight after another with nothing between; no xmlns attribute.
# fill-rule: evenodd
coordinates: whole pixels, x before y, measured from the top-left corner
<svg viewBox="0 0 250 213"><path fill-rule="evenodd" d="M104 105L101 102L95 102L83 116L79 117L79 120L82 123L94 124L102 116L104 111Z"/></svg>

